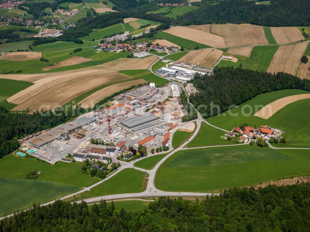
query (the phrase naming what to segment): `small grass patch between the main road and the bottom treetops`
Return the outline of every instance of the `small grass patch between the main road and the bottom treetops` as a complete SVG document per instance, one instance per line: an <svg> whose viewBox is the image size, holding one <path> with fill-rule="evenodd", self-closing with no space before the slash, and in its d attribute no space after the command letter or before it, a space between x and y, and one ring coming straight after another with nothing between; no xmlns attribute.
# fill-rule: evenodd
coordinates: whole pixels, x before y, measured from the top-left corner
<svg viewBox="0 0 310 232"><path fill-rule="evenodd" d="M127 212L139 212L143 211L148 207L150 201L142 201L142 200L121 200L121 201L113 201L114 207L117 210L121 210L122 208ZM107 208L112 205L112 202L107 202ZM91 209L93 205L89 205L88 208Z"/></svg>

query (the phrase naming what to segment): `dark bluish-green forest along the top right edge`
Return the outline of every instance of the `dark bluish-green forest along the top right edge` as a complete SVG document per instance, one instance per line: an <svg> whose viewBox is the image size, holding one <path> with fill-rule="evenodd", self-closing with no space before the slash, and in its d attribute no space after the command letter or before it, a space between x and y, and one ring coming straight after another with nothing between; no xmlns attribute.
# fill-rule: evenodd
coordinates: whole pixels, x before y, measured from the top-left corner
<svg viewBox="0 0 310 232"><path fill-rule="evenodd" d="M181 24L256 24L261 26L310 26L309 0L273 0L270 5L254 1L224 0L218 4L202 4L180 17Z"/></svg>

